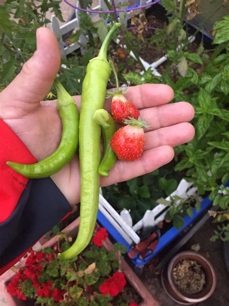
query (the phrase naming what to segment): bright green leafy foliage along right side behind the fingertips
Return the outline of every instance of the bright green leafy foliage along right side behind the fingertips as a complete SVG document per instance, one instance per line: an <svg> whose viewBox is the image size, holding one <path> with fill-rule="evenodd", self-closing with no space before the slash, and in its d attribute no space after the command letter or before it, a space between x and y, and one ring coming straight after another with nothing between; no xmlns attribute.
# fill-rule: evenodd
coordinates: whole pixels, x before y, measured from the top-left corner
<svg viewBox="0 0 229 306"><path fill-rule="evenodd" d="M152 76L150 70L143 75L130 72L125 79L134 85L143 84L144 76L147 83L162 81L174 90L172 102L188 101L194 106L192 123L196 135L188 144L175 148L175 170L182 171L188 182L194 182L201 195L209 194L214 206L228 211L228 197L217 193L221 184L229 180L229 16L214 25L213 45L218 46L207 51L201 40L197 53L192 53L188 50L187 34L181 35L185 29L179 18L181 6L174 2L163 1L171 14L167 32L151 38L157 46L167 49L165 72L160 77Z"/></svg>

